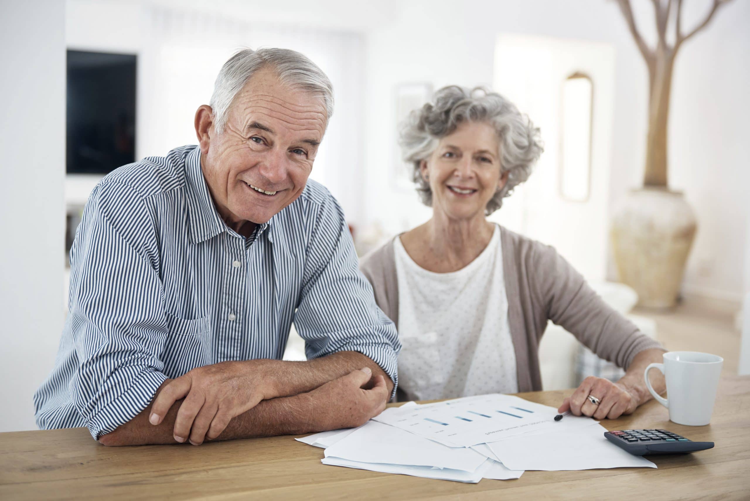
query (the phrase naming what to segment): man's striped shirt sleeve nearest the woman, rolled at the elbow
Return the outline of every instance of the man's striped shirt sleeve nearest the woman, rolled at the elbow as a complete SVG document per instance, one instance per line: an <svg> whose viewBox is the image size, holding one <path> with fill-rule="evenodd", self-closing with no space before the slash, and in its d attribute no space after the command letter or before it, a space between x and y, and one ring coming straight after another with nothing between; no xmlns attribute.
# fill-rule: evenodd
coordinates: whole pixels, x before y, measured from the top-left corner
<svg viewBox="0 0 750 501"><path fill-rule="evenodd" d="M359 271L344 213L332 196L320 206L311 233L294 323L305 339L308 359L341 351L362 353L388 374L395 395L398 333Z"/></svg>

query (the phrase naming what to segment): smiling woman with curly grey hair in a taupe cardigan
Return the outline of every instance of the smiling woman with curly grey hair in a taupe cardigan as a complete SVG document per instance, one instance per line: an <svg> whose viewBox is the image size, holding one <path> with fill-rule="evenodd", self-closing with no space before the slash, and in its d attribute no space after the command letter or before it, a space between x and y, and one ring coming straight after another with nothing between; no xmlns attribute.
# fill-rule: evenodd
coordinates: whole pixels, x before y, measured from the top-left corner
<svg viewBox="0 0 750 501"><path fill-rule="evenodd" d="M552 320L627 370L616 383L587 377L559 412L614 419L649 400L643 370L661 346L553 248L487 221L541 154L529 119L501 95L449 86L410 115L401 145L433 215L361 264L403 344L398 398L541 390L538 346Z"/></svg>

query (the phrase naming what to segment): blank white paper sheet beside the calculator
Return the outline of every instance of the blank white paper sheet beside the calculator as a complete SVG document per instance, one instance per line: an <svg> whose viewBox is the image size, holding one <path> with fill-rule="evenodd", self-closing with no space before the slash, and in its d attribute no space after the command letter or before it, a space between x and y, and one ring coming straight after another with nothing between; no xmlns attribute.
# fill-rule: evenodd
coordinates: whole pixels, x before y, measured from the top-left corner
<svg viewBox="0 0 750 501"><path fill-rule="evenodd" d="M510 469L656 467L646 458L631 455L607 441L605 431L603 426L593 425L565 433L522 435L487 445Z"/></svg>

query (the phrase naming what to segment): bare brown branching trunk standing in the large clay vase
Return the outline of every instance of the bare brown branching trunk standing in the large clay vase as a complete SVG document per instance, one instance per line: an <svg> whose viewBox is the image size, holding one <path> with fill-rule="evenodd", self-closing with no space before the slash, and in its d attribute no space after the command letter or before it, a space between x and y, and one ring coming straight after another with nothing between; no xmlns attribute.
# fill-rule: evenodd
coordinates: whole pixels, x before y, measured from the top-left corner
<svg viewBox="0 0 750 501"><path fill-rule="evenodd" d="M682 34L682 0L651 0L658 41L652 49L638 32L630 0L615 0L619 5L625 23L635 40L635 44L646 61L649 71L649 129L646 136L646 169L643 184L651 187L667 187L667 123L672 87L672 71L677 50L685 40L708 25L719 7L731 0L713 0L708 15L688 34ZM670 14L676 1L674 23ZM674 25L674 43L670 46L667 31Z"/></svg>

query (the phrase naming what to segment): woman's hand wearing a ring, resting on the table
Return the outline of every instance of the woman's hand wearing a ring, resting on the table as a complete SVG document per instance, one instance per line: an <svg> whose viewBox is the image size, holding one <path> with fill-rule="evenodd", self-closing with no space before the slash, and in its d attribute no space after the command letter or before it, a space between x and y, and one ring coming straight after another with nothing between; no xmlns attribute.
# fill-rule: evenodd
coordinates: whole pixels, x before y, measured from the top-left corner
<svg viewBox="0 0 750 501"><path fill-rule="evenodd" d="M589 395L598 398L599 404L592 404L587 398ZM627 386L589 376L580 383L573 395L562 401L557 412L565 413L569 410L575 416L616 419L623 414L633 413L637 407L637 395Z"/></svg>

